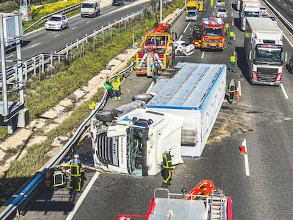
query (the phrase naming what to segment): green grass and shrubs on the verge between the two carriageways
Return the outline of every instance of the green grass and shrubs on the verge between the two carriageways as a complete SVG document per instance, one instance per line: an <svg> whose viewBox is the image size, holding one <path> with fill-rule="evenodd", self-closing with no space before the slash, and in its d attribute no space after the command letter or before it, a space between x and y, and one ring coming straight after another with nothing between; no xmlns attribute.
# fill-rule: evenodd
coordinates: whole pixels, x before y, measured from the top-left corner
<svg viewBox="0 0 293 220"><path fill-rule="evenodd" d="M163 17L168 16L176 8L183 8L183 6L183 0L175 1L164 8ZM44 9L44 11L46 10ZM124 28L113 28L111 32L105 33L103 39L98 35L94 43L93 41L88 42L83 49L80 47L79 50L76 49L72 52L75 55L74 57L77 57L72 62L55 63L55 71L56 69L59 71L52 76L43 73L44 79L42 81L31 78L25 86L25 108L28 108L30 112L30 120L38 118L42 113L57 105L60 100L86 85L87 81L104 69L111 59L132 47L132 35L139 43L142 35L147 30L154 28L155 21L156 16L151 11L145 10L144 18L137 24L127 24L129 26L125 28L126 30ZM59 127L43 134L47 136L47 141L26 147L27 154L23 158L11 162L11 167L6 175L0 179L0 204L3 204L6 199L11 197L13 192L16 192L26 180L35 174L36 170L47 163L49 159L47 153L54 148L51 146L54 138L74 134L81 122L91 112L88 104L92 101L99 102L102 97L103 89L99 88L90 101L86 101L79 108L76 108ZM6 137L8 137L8 134L5 127L0 130L0 141L4 141ZM7 153L8 155L19 154L18 151L13 149L8 149Z"/></svg>

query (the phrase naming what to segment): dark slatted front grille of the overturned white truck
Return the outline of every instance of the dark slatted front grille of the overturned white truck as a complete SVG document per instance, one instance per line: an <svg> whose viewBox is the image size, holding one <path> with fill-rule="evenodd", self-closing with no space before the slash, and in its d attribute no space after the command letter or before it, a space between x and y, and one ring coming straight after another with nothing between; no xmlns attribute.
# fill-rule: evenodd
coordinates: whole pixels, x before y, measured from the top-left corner
<svg viewBox="0 0 293 220"><path fill-rule="evenodd" d="M98 134L97 157L100 162L116 165L113 163L113 139L108 138L106 133Z"/></svg>

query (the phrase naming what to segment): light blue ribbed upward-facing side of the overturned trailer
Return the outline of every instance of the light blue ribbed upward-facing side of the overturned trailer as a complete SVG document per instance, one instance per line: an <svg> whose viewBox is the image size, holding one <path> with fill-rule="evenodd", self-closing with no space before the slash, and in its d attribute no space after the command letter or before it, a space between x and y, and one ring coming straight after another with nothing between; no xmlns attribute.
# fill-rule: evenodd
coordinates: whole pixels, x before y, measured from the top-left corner
<svg viewBox="0 0 293 220"><path fill-rule="evenodd" d="M178 63L179 71L171 79L160 79L146 93L154 97L147 108L198 110L219 75L226 74L224 64Z"/></svg>

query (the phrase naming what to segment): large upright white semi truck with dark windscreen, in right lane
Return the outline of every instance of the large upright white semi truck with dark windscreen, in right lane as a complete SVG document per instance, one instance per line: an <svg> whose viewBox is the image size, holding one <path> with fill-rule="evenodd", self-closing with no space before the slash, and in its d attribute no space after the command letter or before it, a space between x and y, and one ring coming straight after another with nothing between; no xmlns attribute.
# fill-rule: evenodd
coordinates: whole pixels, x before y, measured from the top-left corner
<svg viewBox="0 0 293 220"><path fill-rule="evenodd" d="M279 86L282 66L283 31L270 18L246 18L244 48L248 77L253 84Z"/></svg>

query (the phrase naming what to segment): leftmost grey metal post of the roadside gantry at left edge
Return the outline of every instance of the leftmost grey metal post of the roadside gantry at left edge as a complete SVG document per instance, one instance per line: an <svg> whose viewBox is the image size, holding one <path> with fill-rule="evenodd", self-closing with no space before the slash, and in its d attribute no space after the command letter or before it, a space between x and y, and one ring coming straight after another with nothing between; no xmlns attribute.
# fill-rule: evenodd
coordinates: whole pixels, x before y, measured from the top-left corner
<svg viewBox="0 0 293 220"><path fill-rule="evenodd" d="M5 66L5 44L4 44L4 30L3 30L3 15L0 13L0 46L1 46L1 70L2 70L2 99L4 106L4 114L6 116L8 112L8 97L7 97L7 85L6 85L6 66Z"/></svg>

